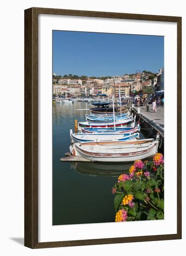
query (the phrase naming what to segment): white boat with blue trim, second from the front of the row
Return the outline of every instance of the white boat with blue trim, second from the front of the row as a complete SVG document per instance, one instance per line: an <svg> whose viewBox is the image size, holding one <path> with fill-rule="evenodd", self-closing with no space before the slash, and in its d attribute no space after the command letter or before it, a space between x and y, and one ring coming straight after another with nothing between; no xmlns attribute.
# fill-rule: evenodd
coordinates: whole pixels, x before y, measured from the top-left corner
<svg viewBox="0 0 186 256"><path fill-rule="evenodd" d="M133 134L93 134L93 133L72 133L71 142L90 142L90 141L136 141L139 139L139 133Z"/></svg>

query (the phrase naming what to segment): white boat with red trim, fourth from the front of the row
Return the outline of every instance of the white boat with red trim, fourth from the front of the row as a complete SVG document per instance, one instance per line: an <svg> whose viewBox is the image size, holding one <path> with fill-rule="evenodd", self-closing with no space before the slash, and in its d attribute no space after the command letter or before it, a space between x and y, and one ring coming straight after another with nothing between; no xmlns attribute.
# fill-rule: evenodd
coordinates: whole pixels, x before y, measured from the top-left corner
<svg viewBox="0 0 186 256"><path fill-rule="evenodd" d="M135 118L117 120L115 122L105 123L90 123L90 122L78 122L78 131L81 132L81 128L109 128L109 127L135 127Z"/></svg>

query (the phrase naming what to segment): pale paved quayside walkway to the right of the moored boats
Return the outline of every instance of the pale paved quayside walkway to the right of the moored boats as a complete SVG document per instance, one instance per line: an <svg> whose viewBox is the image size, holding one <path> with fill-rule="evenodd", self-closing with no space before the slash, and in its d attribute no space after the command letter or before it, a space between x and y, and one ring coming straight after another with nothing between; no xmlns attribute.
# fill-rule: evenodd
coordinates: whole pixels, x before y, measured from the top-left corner
<svg viewBox="0 0 186 256"><path fill-rule="evenodd" d="M149 112L147 112L147 107L140 107L140 114L143 119L152 124L160 132L164 134L164 107L160 106L160 110L157 110L156 113L153 112L152 106L149 106ZM134 107L135 112L138 111L137 107Z"/></svg>

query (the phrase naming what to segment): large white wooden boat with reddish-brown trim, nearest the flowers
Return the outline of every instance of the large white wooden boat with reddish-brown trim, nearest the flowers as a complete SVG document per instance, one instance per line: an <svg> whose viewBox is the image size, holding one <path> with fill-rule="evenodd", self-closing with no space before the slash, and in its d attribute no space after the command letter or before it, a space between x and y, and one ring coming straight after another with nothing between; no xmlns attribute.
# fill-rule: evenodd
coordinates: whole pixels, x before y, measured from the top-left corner
<svg viewBox="0 0 186 256"><path fill-rule="evenodd" d="M70 150L73 156L80 156L92 162L134 162L155 155L158 140L101 141L74 143Z"/></svg>

